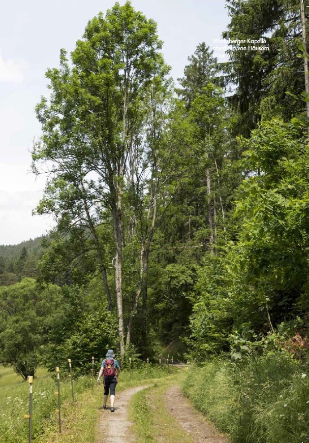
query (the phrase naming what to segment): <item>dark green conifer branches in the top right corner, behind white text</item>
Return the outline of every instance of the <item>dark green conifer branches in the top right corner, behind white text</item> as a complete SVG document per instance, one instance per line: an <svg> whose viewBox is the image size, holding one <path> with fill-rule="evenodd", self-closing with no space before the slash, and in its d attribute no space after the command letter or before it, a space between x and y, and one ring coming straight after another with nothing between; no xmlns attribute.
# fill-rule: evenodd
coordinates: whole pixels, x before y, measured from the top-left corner
<svg viewBox="0 0 309 443"><path fill-rule="evenodd" d="M229 97L234 112L235 134L250 136L259 120L280 117L285 121L304 112L304 104L292 94L304 90L303 65L297 57L301 41L298 0L228 0L231 21L224 38L244 40L265 38L269 51L230 51L225 64L226 83L236 85ZM308 38L308 35L307 35Z"/></svg>

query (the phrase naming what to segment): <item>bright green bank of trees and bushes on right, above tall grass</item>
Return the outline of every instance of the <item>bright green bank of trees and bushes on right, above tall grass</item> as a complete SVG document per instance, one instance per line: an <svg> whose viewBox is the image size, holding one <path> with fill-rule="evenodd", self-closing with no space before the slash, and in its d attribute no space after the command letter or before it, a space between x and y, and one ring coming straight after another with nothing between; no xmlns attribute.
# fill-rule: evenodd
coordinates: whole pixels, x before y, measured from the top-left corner
<svg viewBox="0 0 309 443"><path fill-rule="evenodd" d="M297 315L304 328L307 314L306 140L271 121L240 144L248 178L237 189L238 240L205 258L193 296L193 355L202 360L227 351L235 330L254 341Z"/></svg>

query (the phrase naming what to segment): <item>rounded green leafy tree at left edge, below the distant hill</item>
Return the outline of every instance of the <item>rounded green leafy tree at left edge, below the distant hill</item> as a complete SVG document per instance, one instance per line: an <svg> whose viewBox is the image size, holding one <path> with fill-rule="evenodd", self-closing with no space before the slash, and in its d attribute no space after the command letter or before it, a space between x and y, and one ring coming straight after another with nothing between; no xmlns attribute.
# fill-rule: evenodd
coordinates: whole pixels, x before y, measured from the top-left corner
<svg viewBox="0 0 309 443"><path fill-rule="evenodd" d="M0 288L0 359L24 379L40 363L58 300L59 288L42 288L32 278Z"/></svg>

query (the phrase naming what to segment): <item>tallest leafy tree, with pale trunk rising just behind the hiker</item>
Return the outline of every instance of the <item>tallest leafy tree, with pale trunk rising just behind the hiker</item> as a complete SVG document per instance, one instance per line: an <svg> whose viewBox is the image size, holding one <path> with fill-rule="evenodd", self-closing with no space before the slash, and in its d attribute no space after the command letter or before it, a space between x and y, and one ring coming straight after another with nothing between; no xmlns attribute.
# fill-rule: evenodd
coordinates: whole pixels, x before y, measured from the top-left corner
<svg viewBox="0 0 309 443"><path fill-rule="evenodd" d="M154 78L167 73L161 47L153 20L130 2L116 3L105 17L100 13L88 22L72 52L72 67L61 50L60 69L47 71L50 103L43 98L37 107L43 136L34 148L34 168L41 161L52 164L39 212L60 218L69 213L76 223L82 219L96 239L102 211L110 211L121 357L123 192L146 90ZM100 255L103 246L97 240ZM101 265L104 274L103 258ZM103 280L107 291L106 275Z"/></svg>

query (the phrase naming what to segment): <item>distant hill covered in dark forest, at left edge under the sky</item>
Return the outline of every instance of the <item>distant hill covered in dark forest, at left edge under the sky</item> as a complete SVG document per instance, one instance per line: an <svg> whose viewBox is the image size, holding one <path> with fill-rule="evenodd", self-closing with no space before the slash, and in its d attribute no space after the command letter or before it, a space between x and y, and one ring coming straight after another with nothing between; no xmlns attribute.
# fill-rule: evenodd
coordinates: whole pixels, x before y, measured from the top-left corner
<svg viewBox="0 0 309 443"><path fill-rule="evenodd" d="M9 286L23 277L37 275L37 261L42 255L42 240L26 240L14 245L0 245L0 286Z"/></svg>

